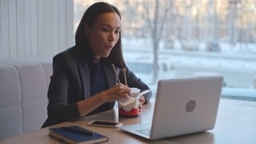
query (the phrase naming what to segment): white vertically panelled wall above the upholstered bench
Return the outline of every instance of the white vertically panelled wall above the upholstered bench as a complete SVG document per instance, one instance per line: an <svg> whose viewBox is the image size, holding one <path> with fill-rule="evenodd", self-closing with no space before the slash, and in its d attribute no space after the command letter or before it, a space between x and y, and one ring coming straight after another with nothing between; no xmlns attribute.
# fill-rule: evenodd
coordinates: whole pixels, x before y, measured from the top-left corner
<svg viewBox="0 0 256 144"><path fill-rule="evenodd" d="M73 46L73 0L0 0L0 61Z"/></svg>

